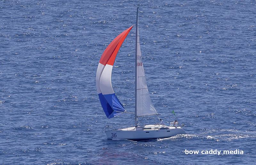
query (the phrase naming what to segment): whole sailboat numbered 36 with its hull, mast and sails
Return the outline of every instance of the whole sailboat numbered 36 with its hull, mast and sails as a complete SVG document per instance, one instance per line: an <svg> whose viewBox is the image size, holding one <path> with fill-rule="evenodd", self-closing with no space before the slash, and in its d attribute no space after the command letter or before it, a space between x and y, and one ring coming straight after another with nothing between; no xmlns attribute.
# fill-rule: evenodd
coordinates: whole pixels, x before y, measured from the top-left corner
<svg viewBox="0 0 256 165"><path fill-rule="evenodd" d="M140 51L138 11L139 8L137 7L135 45L135 125L127 128L109 129L106 130L105 133L108 139L126 139L133 141L168 138L178 134L185 134L182 127L173 123L140 126L139 118L159 114L152 104L148 93ZM113 118L126 112L112 88L111 75L118 50L133 26L134 25L119 34L108 45L100 58L97 68L96 88L101 106L108 118Z"/></svg>

